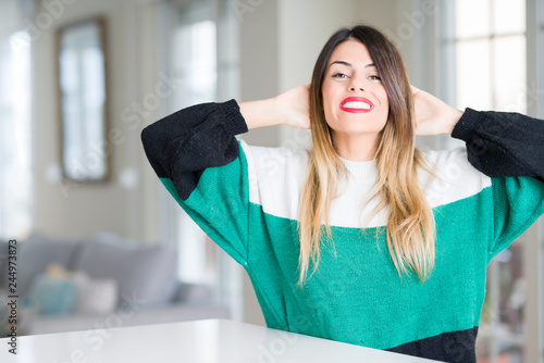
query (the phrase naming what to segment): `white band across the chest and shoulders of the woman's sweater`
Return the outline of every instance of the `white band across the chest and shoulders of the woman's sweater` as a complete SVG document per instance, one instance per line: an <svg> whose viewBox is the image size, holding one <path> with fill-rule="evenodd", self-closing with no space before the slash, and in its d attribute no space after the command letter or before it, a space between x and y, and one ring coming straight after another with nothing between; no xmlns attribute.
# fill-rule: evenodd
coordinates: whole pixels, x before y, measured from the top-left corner
<svg viewBox="0 0 544 363"><path fill-rule="evenodd" d="M265 213L298 220L298 204L306 177L308 153L289 148L248 146L240 140L248 162L249 200ZM436 178L421 171L419 179L432 208L477 195L491 186L491 179L467 161L463 148L423 153ZM339 227L376 227L387 221L387 211L373 213L376 200L367 201L375 183L374 162L344 161L347 179L338 186L339 196L331 205L330 223Z"/></svg>

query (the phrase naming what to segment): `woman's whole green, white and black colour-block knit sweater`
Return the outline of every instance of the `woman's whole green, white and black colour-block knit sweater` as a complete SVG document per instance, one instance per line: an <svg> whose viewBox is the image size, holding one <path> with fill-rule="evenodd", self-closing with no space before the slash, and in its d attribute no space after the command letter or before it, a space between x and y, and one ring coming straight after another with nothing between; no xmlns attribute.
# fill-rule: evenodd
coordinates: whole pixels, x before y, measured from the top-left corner
<svg viewBox="0 0 544 363"><path fill-rule="evenodd" d="M170 193L247 271L269 327L475 362L487 264L544 213L542 165L520 166L512 153L503 158L509 133L490 140L477 132L496 115L468 109L454 135L468 141L472 164L485 171L499 162L504 177L474 168L465 148L423 153L437 176L419 175L436 222L435 267L424 283L413 273L399 276L385 242L387 213L374 215L375 201L363 203L375 183L374 162L343 161L348 175L330 215L334 245L322 241L319 270L299 287L306 150L237 141L234 135L247 126L235 101L176 112L147 127L143 141ZM531 122L542 137L543 123Z"/></svg>

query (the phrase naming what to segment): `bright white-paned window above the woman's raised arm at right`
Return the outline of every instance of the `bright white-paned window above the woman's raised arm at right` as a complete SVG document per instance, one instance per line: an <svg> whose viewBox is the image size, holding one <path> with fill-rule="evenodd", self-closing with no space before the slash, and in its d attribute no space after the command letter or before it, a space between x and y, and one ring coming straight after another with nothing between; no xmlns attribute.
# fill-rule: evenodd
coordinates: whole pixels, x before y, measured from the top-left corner
<svg viewBox="0 0 544 363"><path fill-rule="evenodd" d="M456 104L527 112L524 0L455 2Z"/></svg>

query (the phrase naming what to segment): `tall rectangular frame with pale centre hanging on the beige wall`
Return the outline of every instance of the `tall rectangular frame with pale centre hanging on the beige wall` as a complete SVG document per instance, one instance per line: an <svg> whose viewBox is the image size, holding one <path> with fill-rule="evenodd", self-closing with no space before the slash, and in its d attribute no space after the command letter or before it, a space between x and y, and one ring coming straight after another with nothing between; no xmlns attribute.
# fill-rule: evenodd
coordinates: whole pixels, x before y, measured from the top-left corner
<svg viewBox="0 0 544 363"><path fill-rule="evenodd" d="M109 175L104 20L59 28L57 58L63 177L104 182Z"/></svg>

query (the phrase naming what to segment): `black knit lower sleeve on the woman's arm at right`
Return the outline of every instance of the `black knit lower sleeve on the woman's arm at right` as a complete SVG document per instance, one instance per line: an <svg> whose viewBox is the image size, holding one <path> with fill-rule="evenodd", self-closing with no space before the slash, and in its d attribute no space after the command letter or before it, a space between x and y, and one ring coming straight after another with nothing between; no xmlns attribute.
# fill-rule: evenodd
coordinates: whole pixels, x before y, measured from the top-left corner
<svg viewBox="0 0 544 363"><path fill-rule="evenodd" d="M468 160L490 177L544 182L544 121L519 113L467 109L452 136L467 142Z"/></svg>

